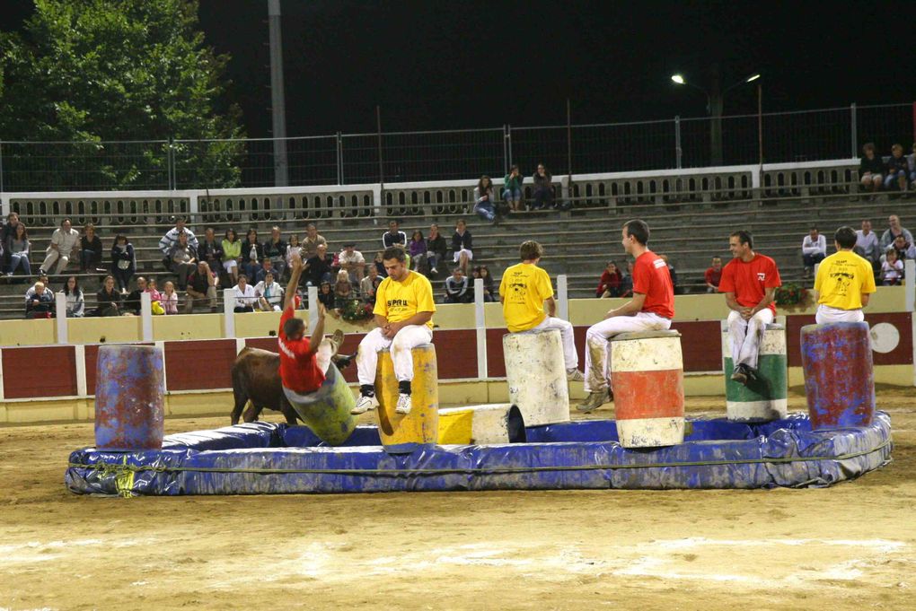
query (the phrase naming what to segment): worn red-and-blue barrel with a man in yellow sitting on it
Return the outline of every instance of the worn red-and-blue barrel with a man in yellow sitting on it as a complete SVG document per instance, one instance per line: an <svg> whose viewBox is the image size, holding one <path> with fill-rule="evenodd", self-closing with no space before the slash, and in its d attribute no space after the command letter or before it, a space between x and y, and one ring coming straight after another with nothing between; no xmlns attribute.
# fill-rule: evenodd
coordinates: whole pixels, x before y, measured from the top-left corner
<svg viewBox="0 0 916 611"><path fill-rule="evenodd" d="M812 429L872 423L875 377L867 323L802 327L802 369Z"/></svg>

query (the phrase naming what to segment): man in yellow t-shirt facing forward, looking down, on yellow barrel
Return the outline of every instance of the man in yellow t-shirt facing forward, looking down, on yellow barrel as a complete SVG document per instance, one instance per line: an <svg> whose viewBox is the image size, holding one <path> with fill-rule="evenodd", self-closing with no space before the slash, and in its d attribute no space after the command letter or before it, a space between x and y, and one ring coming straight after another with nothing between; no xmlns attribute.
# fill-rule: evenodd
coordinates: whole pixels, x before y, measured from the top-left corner
<svg viewBox="0 0 916 611"><path fill-rule="evenodd" d="M391 348L395 377L398 378L398 413L410 413L410 381L413 380L413 356L410 350L432 341L432 286L426 276L407 267L404 248L392 246L382 254L388 277L376 289L377 328L359 342L356 372L360 398L351 413L365 413L378 407L376 366L378 353Z"/></svg>

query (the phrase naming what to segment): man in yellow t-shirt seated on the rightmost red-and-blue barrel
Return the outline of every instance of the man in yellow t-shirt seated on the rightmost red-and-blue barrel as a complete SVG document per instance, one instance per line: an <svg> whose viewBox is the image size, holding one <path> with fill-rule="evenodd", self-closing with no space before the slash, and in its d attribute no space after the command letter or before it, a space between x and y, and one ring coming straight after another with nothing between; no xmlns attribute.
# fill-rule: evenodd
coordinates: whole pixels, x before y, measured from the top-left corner
<svg viewBox="0 0 916 611"><path fill-rule="evenodd" d="M875 292L875 273L871 263L855 252L856 231L841 227L834 233L836 252L821 262L814 279L817 293L818 325L823 323L860 323L865 320L862 307Z"/></svg>

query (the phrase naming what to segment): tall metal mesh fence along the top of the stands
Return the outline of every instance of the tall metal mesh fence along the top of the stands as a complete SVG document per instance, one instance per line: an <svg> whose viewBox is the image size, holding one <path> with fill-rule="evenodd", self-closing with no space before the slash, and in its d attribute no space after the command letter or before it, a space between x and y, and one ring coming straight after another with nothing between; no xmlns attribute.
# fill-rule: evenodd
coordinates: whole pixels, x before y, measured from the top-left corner
<svg viewBox="0 0 916 611"><path fill-rule="evenodd" d="M889 155L891 144L909 150L916 140L914 102L718 120L337 133L284 142L289 186L501 177L513 164L529 176L539 163L561 176L711 166L714 121L721 123L725 166L856 157L866 142ZM0 141L0 191L273 187L274 172L274 141L267 138Z"/></svg>

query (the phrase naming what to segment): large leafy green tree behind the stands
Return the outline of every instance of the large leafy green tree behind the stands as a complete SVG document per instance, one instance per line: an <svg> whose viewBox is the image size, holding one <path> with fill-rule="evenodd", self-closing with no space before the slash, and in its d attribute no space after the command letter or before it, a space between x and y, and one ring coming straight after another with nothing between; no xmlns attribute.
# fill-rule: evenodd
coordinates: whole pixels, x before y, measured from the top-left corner
<svg viewBox="0 0 916 611"><path fill-rule="evenodd" d="M29 143L4 145L6 190L166 188L169 166L180 188L238 184L244 144L208 142L244 135L223 101L229 58L197 8L35 0L21 32L0 33L0 137Z"/></svg>

